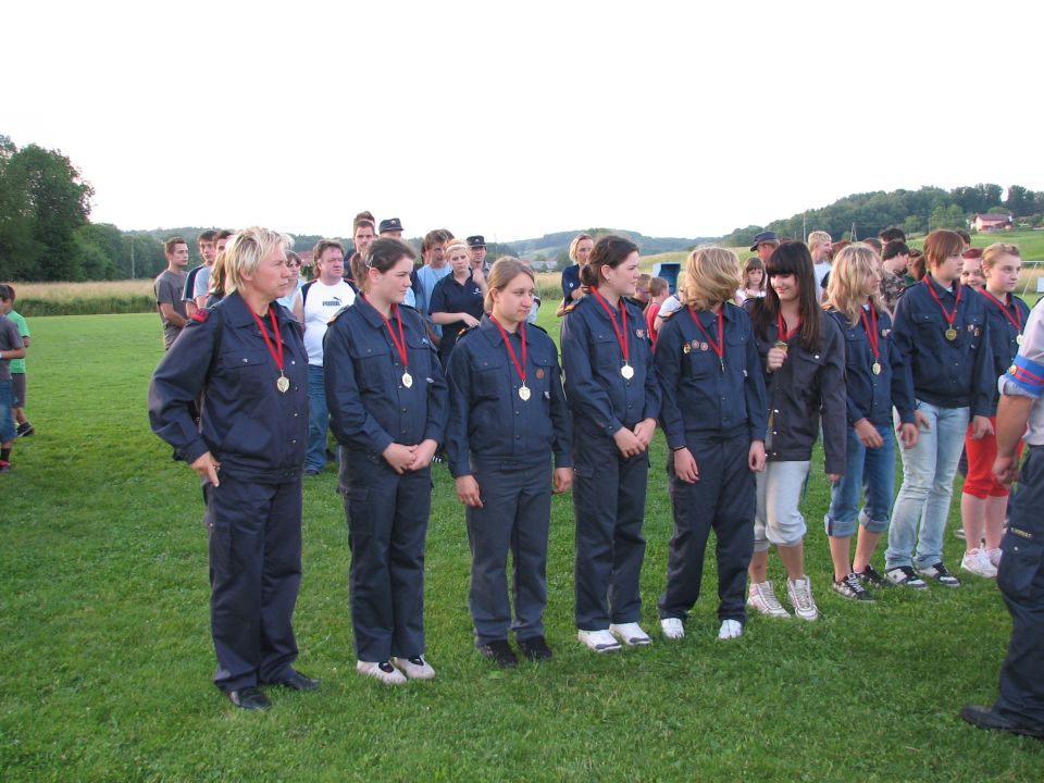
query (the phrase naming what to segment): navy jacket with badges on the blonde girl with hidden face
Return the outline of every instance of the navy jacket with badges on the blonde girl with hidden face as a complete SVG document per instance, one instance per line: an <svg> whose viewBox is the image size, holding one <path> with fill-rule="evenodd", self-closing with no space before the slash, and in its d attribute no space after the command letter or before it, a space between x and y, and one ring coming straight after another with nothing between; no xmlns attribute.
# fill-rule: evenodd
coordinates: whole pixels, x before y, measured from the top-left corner
<svg viewBox="0 0 1044 783"><path fill-rule="evenodd" d="M660 422L673 450L693 438L729 438L745 434L765 440L768 403L758 346L750 318L742 309L722 304L724 340L718 316L688 307L664 319L657 336L656 372L663 390ZM719 360L708 340L723 343Z"/></svg>

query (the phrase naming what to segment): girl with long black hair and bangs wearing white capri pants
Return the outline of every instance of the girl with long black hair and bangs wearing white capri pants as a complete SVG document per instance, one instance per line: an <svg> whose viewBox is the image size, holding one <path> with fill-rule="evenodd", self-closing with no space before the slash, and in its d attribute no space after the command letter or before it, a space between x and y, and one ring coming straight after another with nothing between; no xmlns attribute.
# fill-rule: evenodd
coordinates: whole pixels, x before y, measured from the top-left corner
<svg viewBox="0 0 1044 783"><path fill-rule="evenodd" d="M790 617L768 579L769 545L774 544L794 613L816 620L819 610L805 573L806 526L799 504L820 414L826 477L833 484L845 472L845 345L837 324L819 306L812 257L803 243L780 245L766 269L768 294L748 300L766 372L769 432L766 469L757 476L747 606L769 617Z"/></svg>

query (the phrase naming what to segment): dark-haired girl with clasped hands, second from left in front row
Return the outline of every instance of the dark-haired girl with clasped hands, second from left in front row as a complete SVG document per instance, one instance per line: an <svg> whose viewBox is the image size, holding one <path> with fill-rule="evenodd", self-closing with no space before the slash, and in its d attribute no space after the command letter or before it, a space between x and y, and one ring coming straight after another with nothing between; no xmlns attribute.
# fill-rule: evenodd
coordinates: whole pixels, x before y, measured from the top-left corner
<svg viewBox="0 0 1044 783"><path fill-rule="evenodd" d="M423 657L424 539L448 402L424 322L400 307L414 257L391 238L357 253L361 295L334 318L323 345L351 547L356 669L388 685L435 676Z"/></svg>

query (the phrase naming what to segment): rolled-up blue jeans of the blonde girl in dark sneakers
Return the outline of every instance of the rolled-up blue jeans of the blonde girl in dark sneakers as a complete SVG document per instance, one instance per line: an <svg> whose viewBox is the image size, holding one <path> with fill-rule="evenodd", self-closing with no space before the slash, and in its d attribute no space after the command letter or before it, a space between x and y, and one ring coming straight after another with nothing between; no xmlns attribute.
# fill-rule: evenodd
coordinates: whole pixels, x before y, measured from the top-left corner
<svg viewBox="0 0 1044 783"><path fill-rule="evenodd" d="M875 426L884 442L879 448L862 445L856 428L848 427L845 475L830 490L830 510L823 522L826 535L848 538L856 533L856 520L870 533L888 527L892 493L895 490L895 437L892 426ZM859 492L866 500L859 512Z"/></svg>

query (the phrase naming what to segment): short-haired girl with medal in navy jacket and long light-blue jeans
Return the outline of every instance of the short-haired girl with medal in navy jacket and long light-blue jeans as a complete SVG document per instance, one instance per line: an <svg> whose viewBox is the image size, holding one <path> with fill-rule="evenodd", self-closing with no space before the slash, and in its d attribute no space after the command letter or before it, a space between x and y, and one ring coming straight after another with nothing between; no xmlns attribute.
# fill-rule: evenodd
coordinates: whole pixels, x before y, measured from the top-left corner
<svg viewBox="0 0 1044 783"><path fill-rule="evenodd" d="M993 432L990 414L997 375L986 322L990 303L960 285L962 250L955 232L929 234L927 274L895 306L892 336L913 387L920 432L917 445L902 452L903 484L892 507L885 576L918 589L928 586L921 576L960 586L943 563L954 474L969 420L972 440ZM905 413L898 411L904 421ZM977 546L978 539L968 543Z"/></svg>

